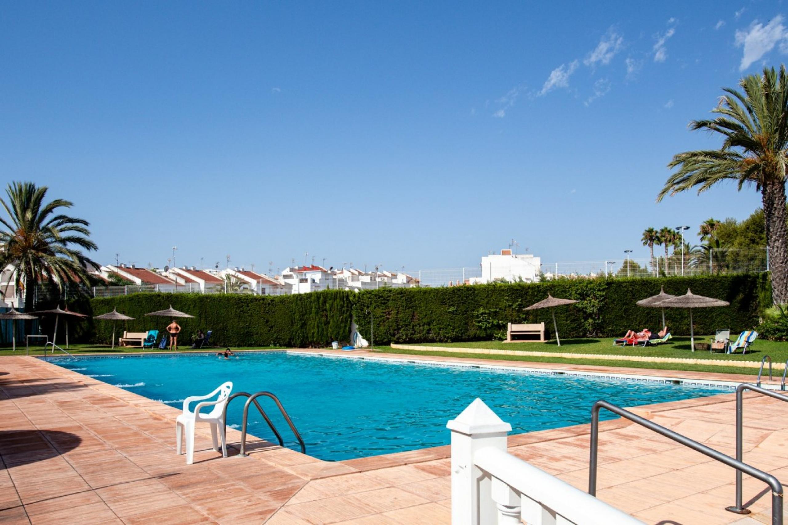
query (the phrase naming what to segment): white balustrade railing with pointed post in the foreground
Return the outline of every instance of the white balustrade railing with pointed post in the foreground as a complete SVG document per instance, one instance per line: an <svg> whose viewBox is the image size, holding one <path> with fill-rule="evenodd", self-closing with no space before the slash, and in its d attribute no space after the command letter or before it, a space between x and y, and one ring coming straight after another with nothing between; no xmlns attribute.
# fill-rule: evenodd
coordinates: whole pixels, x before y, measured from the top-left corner
<svg viewBox="0 0 788 525"><path fill-rule="evenodd" d="M452 525L642 523L507 452L509 423L480 399L452 430Z"/></svg>

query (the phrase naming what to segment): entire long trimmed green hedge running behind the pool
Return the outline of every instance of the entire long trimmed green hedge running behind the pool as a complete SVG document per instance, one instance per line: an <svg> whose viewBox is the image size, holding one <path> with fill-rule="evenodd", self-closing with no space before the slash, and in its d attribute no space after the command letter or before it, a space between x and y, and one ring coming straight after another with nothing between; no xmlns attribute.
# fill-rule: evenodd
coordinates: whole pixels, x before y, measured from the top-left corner
<svg viewBox="0 0 788 525"><path fill-rule="evenodd" d="M201 329L214 330L212 341L221 346L323 347L331 341L348 341L354 319L367 339L374 322L376 344L500 339L505 337L507 322L544 321L552 337L549 310L523 310L550 293L578 300L574 305L556 308L563 337L611 337L630 329L658 330L660 310L637 307L635 301L659 293L662 286L665 292L674 295L683 294L689 288L693 293L730 302L730 307L693 311L695 333L714 333L723 327L734 332L754 328L760 308L771 303L765 274L736 274L386 288L364 292L328 290L283 297L139 293L92 299L89 304L75 305L75 309L90 309L91 315L100 315L117 307L118 311L136 318L118 323L119 331L161 331L169 319L144 314L171 304L177 310L195 315L194 319L179 320L184 345L192 333ZM667 310L666 318L671 333L689 333L686 310ZM82 330L84 337L108 343L112 323L91 321Z"/></svg>

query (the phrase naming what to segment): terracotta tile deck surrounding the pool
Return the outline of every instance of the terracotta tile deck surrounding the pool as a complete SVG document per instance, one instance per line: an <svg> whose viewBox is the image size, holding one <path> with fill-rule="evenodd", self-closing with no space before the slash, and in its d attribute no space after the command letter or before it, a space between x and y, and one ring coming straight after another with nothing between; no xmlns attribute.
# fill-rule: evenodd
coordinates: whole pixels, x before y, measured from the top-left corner
<svg viewBox="0 0 788 525"><path fill-rule="evenodd" d="M745 461L788 482L788 404L752 395L745 404ZM733 453L733 394L637 412ZM231 449L233 457L222 459L205 432L195 445L195 464L187 466L174 451L178 413L39 359L0 357L0 523L450 522L448 447L332 463L261 442L249 458ZM511 436L510 452L585 489L588 430L580 425ZM769 523L768 493L753 501L750 516L723 510L734 497L729 468L626 421L603 422L600 430L598 496L611 505L646 523ZM240 433L229 429L228 440L237 443ZM764 487L745 478L745 501Z"/></svg>

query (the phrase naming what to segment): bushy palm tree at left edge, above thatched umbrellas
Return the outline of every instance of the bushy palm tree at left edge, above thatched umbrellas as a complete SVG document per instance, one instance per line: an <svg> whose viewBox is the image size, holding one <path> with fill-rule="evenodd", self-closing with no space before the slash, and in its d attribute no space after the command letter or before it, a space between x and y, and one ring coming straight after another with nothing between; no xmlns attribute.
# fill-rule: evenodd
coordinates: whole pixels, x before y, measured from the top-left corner
<svg viewBox="0 0 788 525"><path fill-rule="evenodd" d="M44 203L46 186L13 182L0 199L8 218L0 217L0 268L13 266L14 287L24 291L24 308L34 308L35 285L48 281L62 292L69 283L89 284L87 266L96 266L80 248L94 251L87 221L61 213L72 203Z"/></svg>

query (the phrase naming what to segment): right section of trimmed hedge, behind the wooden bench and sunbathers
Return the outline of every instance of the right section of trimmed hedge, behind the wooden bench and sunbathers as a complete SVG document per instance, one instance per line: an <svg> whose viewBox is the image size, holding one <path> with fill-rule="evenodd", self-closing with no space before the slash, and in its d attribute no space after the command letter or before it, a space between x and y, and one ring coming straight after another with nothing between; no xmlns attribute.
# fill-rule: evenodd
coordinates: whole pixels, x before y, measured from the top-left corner
<svg viewBox="0 0 788 525"><path fill-rule="evenodd" d="M355 298L355 320L365 337L374 315L375 343L484 341L505 336L508 322L545 322L552 337L550 311L523 311L548 293L579 302L556 308L563 337L613 337L626 330L648 327L659 330L658 308L637 307L635 302L660 292L717 297L730 307L697 308L695 333L752 329L758 324L760 304L768 305L768 280L764 274L702 277L577 279L533 284L473 285L438 289L379 289ZM689 334L686 310L666 311L674 335Z"/></svg>

